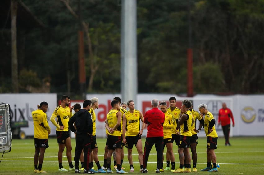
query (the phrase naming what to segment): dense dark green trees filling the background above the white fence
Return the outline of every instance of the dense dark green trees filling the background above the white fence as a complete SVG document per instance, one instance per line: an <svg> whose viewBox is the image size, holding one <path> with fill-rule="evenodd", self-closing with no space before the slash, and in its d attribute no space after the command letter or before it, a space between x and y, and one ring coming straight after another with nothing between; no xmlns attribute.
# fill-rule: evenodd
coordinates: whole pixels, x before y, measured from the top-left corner
<svg viewBox="0 0 264 175"><path fill-rule="evenodd" d="M93 52L84 32L87 87L91 62L97 66L87 92L120 92L121 1L80 1ZM51 80L51 92L79 92L79 20L62 0L22 2L46 28L24 32L24 50L18 53L18 59L24 58L19 61L20 78L22 70L31 71L39 78L37 83ZM78 15L78 1L68 2ZM194 93L263 93L263 11L262 0L137 1L139 93L186 93L188 48L193 49ZM2 29L0 59L7 61L1 71L5 82L1 93L11 91L8 34Z"/></svg>

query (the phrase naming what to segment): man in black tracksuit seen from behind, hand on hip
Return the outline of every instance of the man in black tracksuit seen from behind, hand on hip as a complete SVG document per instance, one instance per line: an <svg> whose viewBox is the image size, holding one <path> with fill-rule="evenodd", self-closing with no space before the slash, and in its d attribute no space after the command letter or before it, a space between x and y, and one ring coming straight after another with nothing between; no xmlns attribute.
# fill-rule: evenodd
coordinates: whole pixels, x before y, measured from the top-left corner
<svg viewBox="0 0 264 175"><path fill-rule="evenodd" d="M76 112L69 120L69 128L72 132L76 133L76 147L75 147L75 156L74 156L74 166L75 173L80 173L79 171L79 159L84 149L84 173L94 174L89 171L89 156L91 153L91 135L93 133L93 122L92 116L88 112L91 108L91 101L84 100L83 109L80 109ZM73 126L75 122L76 129Z"/></svg>

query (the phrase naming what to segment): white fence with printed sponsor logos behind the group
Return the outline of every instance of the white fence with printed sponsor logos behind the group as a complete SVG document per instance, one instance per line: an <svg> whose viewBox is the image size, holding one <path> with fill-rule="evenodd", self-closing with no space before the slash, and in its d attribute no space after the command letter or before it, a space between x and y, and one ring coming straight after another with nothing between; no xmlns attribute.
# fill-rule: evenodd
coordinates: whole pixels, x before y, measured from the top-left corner
<svg viewBox="0 0 264 175"><path fill-rule="evenodd" d="M87 94L86 98L99 98L99 108L95 109L96 119L96 135L105 137L104 120L106 114L111 109L111 101L115 96L120 94ZM205 103L208 105L209 111L214 114L216 121L218 120L218 110L222 107L222 102L226 102L234 115L235 127L231 127L230 136L262 136L264 133L264 95L233 95L233 96L215 96L215 95L197 95L193 98L178 97L175 94L138 94L137 99L132 99L135 102L136 109L139 109L143 115L151 109L150 101L153 98L159 101L167 101L171 96L175 96L177 106L180 107L181 100L189 99L193 101L194 110L198 111L198 105ZM31 112L36 110L37 105L42 101L49 104L47 116L48 121L52 112L57 107L56 94L0 94L0 101L8 103L11 107L11 121L26 120L29 127L21 128L27 136L34 135L34 126ZM71 105L80 103L82 106L83 100L71 99ZM199 121L198 121L199 123ZM49 122L52 128L51 135L55 135L55 126ZM221 126L216 124L216 130L219 136L223 136ZM144 130L143 135L146 135ZM204 132L198 133L199 136L205 136Z"/></svg>

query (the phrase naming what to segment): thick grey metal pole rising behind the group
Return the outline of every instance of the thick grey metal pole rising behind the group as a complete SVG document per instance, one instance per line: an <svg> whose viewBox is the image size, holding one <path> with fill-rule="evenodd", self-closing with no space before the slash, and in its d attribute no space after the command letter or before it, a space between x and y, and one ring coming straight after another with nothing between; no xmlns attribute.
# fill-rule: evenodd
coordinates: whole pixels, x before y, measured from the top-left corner
<svg viewBox="0 0 264 175"><path fill-rule="evenodd" d="M122 101L137 101L137 1L122 0L121 94ZM135 104L137 105L137 104Z"/></svg>

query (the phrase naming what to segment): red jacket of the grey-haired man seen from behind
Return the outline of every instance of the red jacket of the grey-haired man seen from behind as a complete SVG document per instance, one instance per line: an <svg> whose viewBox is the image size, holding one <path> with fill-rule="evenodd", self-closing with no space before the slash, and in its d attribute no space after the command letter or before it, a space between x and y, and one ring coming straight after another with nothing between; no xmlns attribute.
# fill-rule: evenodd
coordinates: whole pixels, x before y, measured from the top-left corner
<svg viewBox="0 0 264 175"><path fill-rule="evenodd" d="M144 123L148 124L147 137L163 137L163 123L165 114L158 108L148 110L144 116Z"/></svg>

